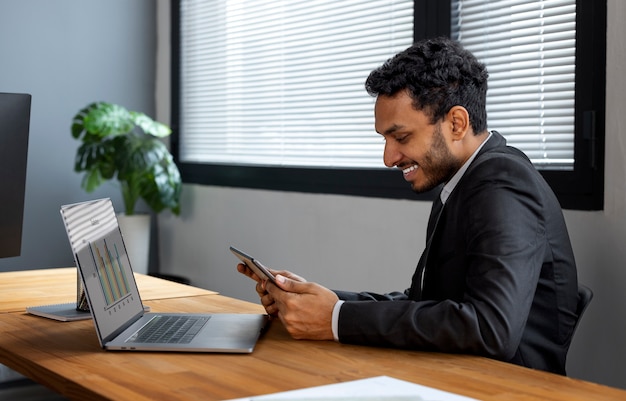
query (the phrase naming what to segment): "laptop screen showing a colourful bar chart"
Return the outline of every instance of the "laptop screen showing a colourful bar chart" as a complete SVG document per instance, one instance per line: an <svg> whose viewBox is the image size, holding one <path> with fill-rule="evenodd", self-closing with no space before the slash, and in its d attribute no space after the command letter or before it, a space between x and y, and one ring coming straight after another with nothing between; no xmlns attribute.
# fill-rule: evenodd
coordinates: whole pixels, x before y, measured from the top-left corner
<svg viewBox="0 0 626 401"><path fill-rule="evenodd" d="M61 214L101 343L143 313L110 199L65 205Z"/></svg>

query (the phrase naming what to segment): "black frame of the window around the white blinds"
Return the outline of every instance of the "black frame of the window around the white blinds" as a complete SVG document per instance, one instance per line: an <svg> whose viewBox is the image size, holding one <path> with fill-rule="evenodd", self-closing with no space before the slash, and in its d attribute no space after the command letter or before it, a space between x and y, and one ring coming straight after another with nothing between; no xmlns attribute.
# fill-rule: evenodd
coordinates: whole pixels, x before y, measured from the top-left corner
<svg viewBox="0 0 626 401"><path fill-rule="evenodd" d="M303 168L181 162L178 135L180 1L172 0L171 6L173 134L170 146L183 182L390 199L433 199L435 191L415 194L402 178L402 174L394 169ZM414 0L414 7L414 40L450 35L450 2ZM604 206L606 9L606 0L576 1L574 169L540 170L564 209L602 210ZM381 60L381 63L383 61ZM364 81L365 78L363 77Z"/></svg>

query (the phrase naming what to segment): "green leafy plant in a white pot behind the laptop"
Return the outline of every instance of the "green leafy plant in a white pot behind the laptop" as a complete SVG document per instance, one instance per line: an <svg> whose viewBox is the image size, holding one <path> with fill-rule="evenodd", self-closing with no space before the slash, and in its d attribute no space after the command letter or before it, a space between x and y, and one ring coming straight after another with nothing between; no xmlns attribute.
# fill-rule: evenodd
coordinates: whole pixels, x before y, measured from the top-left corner
<svg viewBox="0 0 626 401"><path fill-rule="evenodd" d="M92 192L109 180L120 184L124 213L136 215L139 199L155 213L169 209L180 214L182 180L174 159L161 138L171 129L147 115L106 102L95 102L80 110L73 119L72 136L81 141L76 152L74 170L84 172L81 187ZM126 217L119 218L126 245L131 239ZM145 250L128 249L133 269L147 272L150 216L141 216L147 225L141 246ZM147 223L146 223L147 221ZM144 228L145 229L145 228ZM144 271L145 270L145 271Z"/></svg>

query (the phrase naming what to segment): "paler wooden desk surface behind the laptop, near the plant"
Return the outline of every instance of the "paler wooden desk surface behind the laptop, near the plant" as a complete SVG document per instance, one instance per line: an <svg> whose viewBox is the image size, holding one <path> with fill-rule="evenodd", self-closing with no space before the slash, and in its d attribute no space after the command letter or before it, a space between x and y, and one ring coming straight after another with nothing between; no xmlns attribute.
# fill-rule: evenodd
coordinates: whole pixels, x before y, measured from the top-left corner
<svg viewBox="0 0 626 401"><path fill-rule="evenodd" d="M0 273L0 313L22 312L29 306L76 302L76 268L39 269ZM216 294L215 291L135 273L141 299Z"/></svg>

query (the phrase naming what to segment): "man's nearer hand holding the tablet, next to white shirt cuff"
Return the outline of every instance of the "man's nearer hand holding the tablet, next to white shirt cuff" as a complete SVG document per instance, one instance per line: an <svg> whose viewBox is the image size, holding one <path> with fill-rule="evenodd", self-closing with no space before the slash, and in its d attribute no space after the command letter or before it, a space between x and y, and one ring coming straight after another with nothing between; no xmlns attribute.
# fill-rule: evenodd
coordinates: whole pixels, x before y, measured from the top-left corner
<svg viewBox="0 0 626 401"><path fill-rule="evenodd" d="M332 314L337 295L319 284L300 281L295 275L277 272L275 276L277 286L265 285L265 297L271 298L271 303L266 305L262 299L268 313L277 315L295 339L333 340Z"/></svg>

